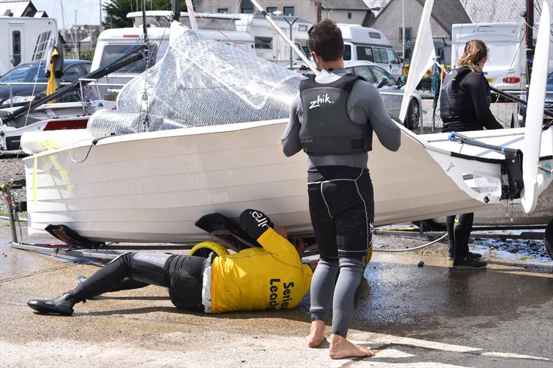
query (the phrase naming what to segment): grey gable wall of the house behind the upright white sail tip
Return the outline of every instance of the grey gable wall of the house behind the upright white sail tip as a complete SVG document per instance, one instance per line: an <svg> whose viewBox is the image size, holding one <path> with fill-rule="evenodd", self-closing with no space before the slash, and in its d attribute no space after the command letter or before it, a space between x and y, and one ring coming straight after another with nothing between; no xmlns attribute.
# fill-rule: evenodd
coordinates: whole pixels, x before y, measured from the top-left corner
<svg viewBox="0 0 553 368"><path fill-rule="evenodd" d="M400 41L400 28L402 27L402 3L403 1L394 1L392 0L389 3L388 8L383 12L380 12L379 17L377 17L370 25L371 28L376 28L386 35L388 41L392 44L397 55L402 56L402 42ZM411 28L411 39L414 41L420 23L420 17L422 16L422 6L418 1L404 1L405 10L404 10L404 24L405 28ZM449 35L449 32L442 28L440 24L435 21L435 19L430 19L430 26L432 29L432 34L434 36L443 36Z"/></svg>

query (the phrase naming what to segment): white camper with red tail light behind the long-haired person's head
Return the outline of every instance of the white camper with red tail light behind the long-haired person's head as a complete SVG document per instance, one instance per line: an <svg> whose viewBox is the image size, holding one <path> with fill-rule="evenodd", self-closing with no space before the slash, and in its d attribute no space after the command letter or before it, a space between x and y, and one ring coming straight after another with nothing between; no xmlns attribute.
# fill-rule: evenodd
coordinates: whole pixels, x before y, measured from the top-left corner
<svg viewBox="0 0 553 368"><path fill-rule="evenodd" d="M489 84L501 90L525 89L524 23L453 24L451 32L451 62L457 60L465 43L480 39L489 49L484 75Z"/></svg>

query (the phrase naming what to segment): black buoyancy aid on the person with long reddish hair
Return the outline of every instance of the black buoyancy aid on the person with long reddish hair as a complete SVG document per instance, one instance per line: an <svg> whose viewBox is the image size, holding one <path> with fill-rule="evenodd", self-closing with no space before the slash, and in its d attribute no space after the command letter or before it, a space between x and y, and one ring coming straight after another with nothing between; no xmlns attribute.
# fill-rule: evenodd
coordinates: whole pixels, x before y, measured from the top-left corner
<svg viewBox="0 0 553 368"><path fill-rule="evenodd" d="M476 122L476 111L468 90L460 86L471 70L466 66L453 69L442 82L440 117L447 122Z"/></svg>

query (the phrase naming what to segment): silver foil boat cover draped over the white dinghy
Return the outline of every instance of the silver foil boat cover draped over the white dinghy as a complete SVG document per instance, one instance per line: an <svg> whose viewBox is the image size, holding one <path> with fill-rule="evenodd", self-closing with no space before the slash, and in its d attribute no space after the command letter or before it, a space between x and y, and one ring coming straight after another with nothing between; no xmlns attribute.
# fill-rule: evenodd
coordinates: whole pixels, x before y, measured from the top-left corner
<svg viewBox="0 0 553 368"><path fill-rule="evenodd" d="M288 117L302 77L180 23L155 66L122 88L117 110L88 120L95 137Z"/></svg>

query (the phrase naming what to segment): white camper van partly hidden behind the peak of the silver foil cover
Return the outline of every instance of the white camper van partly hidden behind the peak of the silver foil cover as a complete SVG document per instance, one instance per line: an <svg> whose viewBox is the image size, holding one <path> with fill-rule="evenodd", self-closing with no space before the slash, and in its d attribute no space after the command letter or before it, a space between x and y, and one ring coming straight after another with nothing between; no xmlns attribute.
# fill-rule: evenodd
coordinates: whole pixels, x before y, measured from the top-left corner
<svg viewBox="0 0 553 368"><path fill-rule="evenodd" d="M169 46L169 21L167 19L170 14L171 12L165 10L146 12L150 43L148 52L149 66L153 66L165 56L165 52ZM254 37L247 32L236 29L235 22L240 19L239 17L229 14L209 14L209 23L207 23L200 18L205 18L206 15L198 14L198 17L196 17L200 34L209 39L215 39L241 48L245 52L255 52ZM91 70L97 70L101 66L109 64L111 61L118 59L129 48L144 42L144 35L142 35L142 12L131 12L127 14L127 17L133 19L132 28L114 28L100 33ZM187 13L182 13L180 21L190 26ZM224 32L219 32L218 29ZM111 73L97 82L100 94L105 99L115 97L128 81L140 75L144 70L146 70L146 61L141 59L119 69L117 72Z"/></svg>

